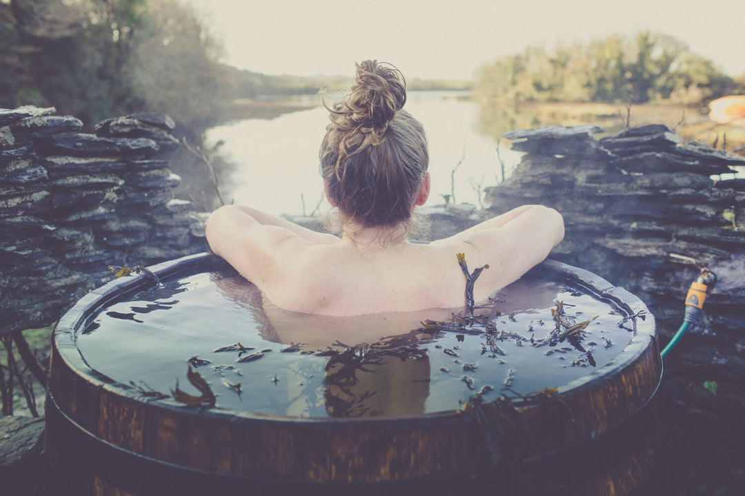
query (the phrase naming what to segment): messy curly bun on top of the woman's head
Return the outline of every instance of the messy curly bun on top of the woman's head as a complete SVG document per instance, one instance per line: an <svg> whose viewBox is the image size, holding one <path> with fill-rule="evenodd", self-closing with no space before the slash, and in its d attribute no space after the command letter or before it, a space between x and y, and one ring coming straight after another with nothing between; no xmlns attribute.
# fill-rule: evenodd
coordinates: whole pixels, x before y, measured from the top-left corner
<svg viewBox="0 0 745 496"><path fill-rule="evenodd" d="M406 80L395 66L377 60L356 65L355 83L346 106L350 117L370 131L384 132L406 103Z"/></svg>

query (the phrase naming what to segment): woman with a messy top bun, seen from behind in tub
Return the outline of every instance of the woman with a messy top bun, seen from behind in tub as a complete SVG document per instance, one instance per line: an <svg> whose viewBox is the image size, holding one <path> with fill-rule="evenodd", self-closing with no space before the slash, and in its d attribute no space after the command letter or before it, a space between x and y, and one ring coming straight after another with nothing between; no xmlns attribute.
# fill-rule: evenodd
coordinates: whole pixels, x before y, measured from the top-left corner
<svg viewBox="0 0 745 496"><path fill-rule="evenodd" d="M229 205L207 222L212 251L276 306L337 316L463 307L457 254L472 268L489 265L476 280L476 301L544 260L564 225L556 210L540 205L427 245L408 242L430 178L424 129L402 110L405 102L398 69L368 60L357 66L346 100L329 109L321 175L340 213L340 237Z"/></svg>

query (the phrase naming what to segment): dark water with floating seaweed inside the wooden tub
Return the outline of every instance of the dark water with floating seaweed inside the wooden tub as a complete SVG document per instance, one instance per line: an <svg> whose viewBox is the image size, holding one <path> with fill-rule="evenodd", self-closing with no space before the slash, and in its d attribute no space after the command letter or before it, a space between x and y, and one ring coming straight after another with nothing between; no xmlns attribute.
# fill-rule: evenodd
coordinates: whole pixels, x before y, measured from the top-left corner
<svg viewBox="0 0 745 496"><path fill-rule="evenodd" d="M591 322L560 336L557 300L562 331ZM145 396L174 401L177 387L199 396L191 367L218 408L326 417L457 410L477 393L489 401L559 387L632 337L612 304L536 277L495 294L477 318L453 312L297 314L242 277L197 274L101 310L77 347L90 367Z"/></svg>

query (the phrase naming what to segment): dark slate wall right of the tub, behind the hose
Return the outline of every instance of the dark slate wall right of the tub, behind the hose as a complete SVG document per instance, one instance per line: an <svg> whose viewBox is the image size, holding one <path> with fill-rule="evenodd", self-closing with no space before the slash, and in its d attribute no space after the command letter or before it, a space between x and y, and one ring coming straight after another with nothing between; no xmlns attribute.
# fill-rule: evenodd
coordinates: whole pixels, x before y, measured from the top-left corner
<svg viewBox="0 0 745 496"><path fill-rule="evenodd" d="M690 494L691 480L714 481L701 494L735 487L733 477L745 468L745 180L728 173L745 159L684 143L665 126L599 140L597 132L576 126L507 133L513 149L526 154L507 181L487 191L489 211L526 203L557 208L566 235L552 257L638 295L657 320L662 346L682 323L688 286L699 274L695 263L676 256L714 271L718 280L700 323L665 356L662 394L680 476L670 494Z"/></svg>

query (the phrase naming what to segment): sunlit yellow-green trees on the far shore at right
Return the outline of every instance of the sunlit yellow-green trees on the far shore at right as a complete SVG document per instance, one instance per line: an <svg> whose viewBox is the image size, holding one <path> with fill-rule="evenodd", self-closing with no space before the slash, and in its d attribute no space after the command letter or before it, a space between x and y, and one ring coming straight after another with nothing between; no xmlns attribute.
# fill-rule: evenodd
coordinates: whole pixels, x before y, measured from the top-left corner
<svg viewBox="0 0 745 496"><path fill-rule="evenodd" d="M474 86L487 98L609 103L703 103L738 88L685 43L648 31L559 47L553 54L529 47L482 67Z"/></svg>

